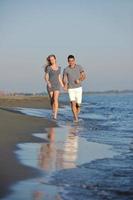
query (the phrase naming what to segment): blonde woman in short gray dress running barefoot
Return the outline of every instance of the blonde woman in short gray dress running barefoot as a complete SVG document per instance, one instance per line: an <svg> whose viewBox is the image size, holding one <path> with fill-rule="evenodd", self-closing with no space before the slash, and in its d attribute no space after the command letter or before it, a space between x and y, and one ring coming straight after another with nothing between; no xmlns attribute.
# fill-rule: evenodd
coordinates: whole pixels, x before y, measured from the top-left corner
<svg viewBox="0 0 133 200"><path fill-rule="evenodd" d="M53 109L53 118L57 119L60 86L64 87L64 85L61 78L61 67L58 66L55 55L49 55L47 57L45 80L47 82L47 91Z"/></svg>

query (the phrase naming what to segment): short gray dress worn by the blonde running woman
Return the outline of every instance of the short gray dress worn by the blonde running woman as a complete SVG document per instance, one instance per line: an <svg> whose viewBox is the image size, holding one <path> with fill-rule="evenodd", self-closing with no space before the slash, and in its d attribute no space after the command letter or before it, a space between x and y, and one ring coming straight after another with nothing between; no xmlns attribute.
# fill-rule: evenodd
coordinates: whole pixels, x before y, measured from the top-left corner
<svg viewBox="0 0 133 200"><path fill-rule="evenodd" d="M48 88L48 90L60 90L59 74L61 73L61 67L58 67L57 70L53 70L51 66L47 66L45 72L48 73L49 81L51 83L51 88Z"/></svg>

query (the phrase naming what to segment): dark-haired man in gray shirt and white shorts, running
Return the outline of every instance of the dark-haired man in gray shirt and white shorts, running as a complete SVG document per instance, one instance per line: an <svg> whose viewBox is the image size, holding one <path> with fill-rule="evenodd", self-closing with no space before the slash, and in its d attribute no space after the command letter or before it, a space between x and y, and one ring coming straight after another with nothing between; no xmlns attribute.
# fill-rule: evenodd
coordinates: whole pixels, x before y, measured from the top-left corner
<svg viewBox="0 0 133 200"><path fill-rule="evenodd" d="M71 102L71 109L74 116L74 122L78 122L78 114L82 102L81 82L85 79L85 73L82 66L77 65L73 55L68 56L68 66L63 72L63 83L68 89Z"/></svg>

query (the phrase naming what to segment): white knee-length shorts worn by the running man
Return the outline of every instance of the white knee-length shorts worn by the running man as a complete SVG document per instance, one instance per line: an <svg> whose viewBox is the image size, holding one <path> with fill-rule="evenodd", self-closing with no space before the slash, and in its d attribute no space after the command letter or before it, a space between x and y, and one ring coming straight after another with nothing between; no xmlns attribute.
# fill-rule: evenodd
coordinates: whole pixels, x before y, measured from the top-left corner
<svg viewBox="0 0 133 200"><path fill-rule="evenodd" d="M82 102L82 87L68 89L70 101L76 101L81 104Z"/></svg>

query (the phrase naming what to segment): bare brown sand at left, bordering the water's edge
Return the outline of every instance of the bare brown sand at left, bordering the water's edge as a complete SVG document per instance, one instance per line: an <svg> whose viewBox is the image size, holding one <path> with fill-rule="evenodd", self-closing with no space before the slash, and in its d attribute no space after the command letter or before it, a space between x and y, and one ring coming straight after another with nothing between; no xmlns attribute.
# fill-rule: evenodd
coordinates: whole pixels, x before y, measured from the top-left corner
<svg viewBox="0 0 133 200"><path fill-rule="evenodd" d="M16 144L42 142L41 139L33 137L32 133L45 132L45 128L56 126L49 120L8 110L8 107L19 106L49 108L49 102L47 97L0 98L0 198L10 192L9 187L15 182L33 178L39 174L37 169L19 163L14 154Z"/></svg>

